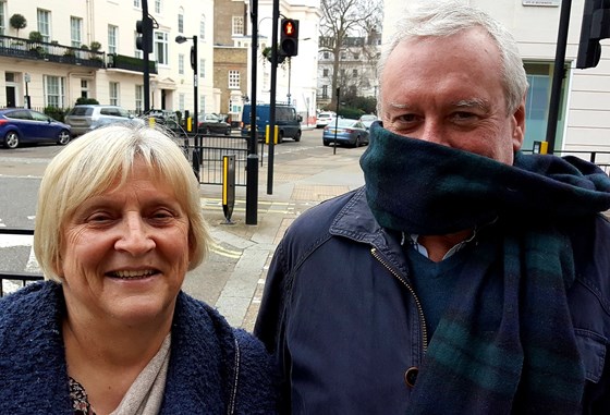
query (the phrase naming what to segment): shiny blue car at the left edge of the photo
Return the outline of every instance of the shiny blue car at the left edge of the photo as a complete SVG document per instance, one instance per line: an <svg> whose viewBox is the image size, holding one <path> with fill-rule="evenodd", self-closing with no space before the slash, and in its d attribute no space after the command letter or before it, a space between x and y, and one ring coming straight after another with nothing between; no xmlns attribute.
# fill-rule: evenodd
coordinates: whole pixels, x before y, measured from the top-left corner
<svg viewBox="0 0 610 415"><path fill-rule="evenodd" d="M7 148L25 143L57 143L65 145L71 138L70 125L27 108L0 110L0 138Z"/></svg>

